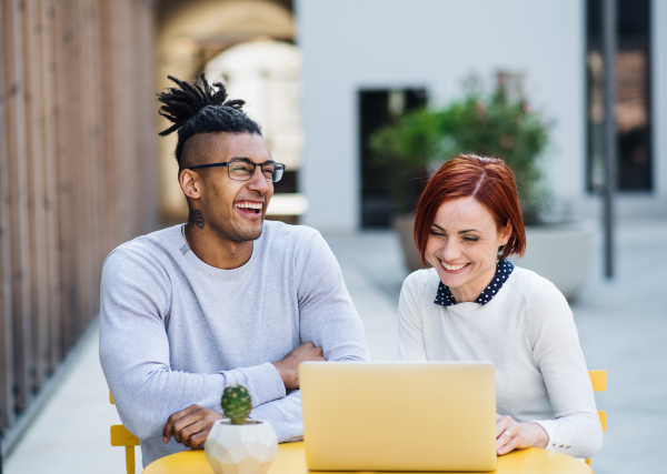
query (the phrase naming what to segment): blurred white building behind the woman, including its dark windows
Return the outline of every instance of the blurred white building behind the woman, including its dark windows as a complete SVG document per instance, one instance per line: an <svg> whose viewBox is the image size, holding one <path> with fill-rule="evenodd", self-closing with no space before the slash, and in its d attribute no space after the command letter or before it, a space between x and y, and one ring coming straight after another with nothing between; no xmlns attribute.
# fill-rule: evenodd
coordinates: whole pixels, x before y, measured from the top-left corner
<svg viewBox="0 0 667 474"><path fill-rule="evenodd" d="M667 215L667 3L619 0L618 212ZM531 107L554 120L547 175L561 212L597 216L603 184L600 2L596 0L297 1L303 53L303 222L378 223L388 191L367 167L366 140L405 107L447 103L470 72L526 78ZM387 119L385 119L386 121ZM378 123L379 122L379 123ZM336 200L331 199L336 195Z"/></svg>

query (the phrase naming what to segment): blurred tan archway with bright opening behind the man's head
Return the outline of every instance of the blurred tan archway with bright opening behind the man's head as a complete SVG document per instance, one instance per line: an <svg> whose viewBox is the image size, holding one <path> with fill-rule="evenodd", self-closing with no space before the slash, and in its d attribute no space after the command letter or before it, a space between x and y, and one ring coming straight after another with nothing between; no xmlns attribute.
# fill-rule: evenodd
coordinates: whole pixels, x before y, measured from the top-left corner
<svg viewBox="0 0 667 474"><path fill-rule="evenodd" d="M292 2L165 0L157 2L156 13L157 88L173 85L167 75L190 80L206 71L210 82L227 85L230 99L243 99L273 158L287 167L269 212L296 223L307 203L296 194L303 137L301 52L295 46ZM159 127L167 123L159 119ZM172 134L158 144L166 222L180 222L187 215L173 158L176 141Z"/></svg>

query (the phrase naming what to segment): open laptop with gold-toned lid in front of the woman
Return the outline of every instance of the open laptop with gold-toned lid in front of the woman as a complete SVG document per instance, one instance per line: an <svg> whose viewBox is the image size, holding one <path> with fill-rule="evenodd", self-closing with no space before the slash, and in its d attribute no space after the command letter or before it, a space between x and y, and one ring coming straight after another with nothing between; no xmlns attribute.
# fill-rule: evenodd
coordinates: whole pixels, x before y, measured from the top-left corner
<svg viewBox="0 0 667 474"><path fill-rule="evenodd" d="M496 381L486 362L305 362L311 471L494 471Z"/></svg>

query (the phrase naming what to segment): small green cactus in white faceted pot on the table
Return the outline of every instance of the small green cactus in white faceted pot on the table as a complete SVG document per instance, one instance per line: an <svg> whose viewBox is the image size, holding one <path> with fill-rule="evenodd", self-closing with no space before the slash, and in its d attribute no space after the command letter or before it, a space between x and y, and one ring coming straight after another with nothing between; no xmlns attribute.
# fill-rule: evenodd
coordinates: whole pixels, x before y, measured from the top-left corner
<svg viewBox="0 0 667 474"><path fill-rule="evenodd" d="M222 412L203 444L206 460L217 474L265 474L278 454L278 438L269 423L248 420L252 403L242 385L225 389Z"/></svg>

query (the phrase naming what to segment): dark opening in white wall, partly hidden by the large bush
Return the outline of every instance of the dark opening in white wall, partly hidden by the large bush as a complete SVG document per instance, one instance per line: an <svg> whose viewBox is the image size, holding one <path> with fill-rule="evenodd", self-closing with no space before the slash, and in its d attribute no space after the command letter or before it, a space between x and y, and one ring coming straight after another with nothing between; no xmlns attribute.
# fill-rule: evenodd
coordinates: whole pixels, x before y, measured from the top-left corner
<svg viewBox="0 0 667 474"><path fill-rule="evenodd" d="M409 110L426 105L426 90L365 90L359 92L359 157L361 162L361 226L388 228L394 216L391 179L386 167L374 161L369 138L379 128ZM405 183L410 186L411 183ZM416 191L416 201L419 192Z"/></svg>

